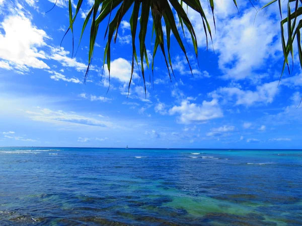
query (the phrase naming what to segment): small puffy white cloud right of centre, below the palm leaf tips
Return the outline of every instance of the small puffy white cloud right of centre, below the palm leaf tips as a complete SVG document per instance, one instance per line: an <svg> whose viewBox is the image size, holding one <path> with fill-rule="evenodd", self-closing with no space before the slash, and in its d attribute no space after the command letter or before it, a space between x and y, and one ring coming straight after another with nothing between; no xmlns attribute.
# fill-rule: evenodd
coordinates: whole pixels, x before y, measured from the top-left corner
<svg viewBox="0 0 302 226"><path fill-rule="evenodd" d="M190 103L189 100L182 100L180 106L173 106L169 110L170 115L179 114L179 123L203 123L205 121L223 117L222 110L217 99L203 101L202 104Z"/></svg>

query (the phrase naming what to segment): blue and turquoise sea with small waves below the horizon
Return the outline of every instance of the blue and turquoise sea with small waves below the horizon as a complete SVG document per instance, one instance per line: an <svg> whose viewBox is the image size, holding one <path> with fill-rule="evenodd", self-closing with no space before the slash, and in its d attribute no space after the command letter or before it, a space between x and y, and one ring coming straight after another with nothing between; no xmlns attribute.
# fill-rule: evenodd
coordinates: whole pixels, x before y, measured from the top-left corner
<svg viewBox="0 0 302 226"><path fill-rule="evenodd" d="M302 225L302 151L0 148L0 225Z"/></svg>

